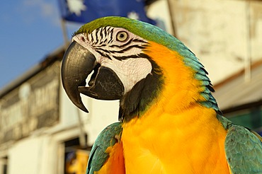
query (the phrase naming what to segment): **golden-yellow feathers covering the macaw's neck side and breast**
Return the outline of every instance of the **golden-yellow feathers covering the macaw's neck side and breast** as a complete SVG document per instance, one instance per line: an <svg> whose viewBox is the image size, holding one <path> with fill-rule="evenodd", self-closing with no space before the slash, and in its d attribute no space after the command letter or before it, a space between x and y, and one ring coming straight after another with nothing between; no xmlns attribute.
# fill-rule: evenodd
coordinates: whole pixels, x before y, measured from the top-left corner
<svg viewBox="0 0 262 174"><path fill-rule="evenodd" d="M222 170L228 168L224 153L227 132L215 110L196 102L204 99L195 72L178 53L149 44L145 53L162 68L164 89L142 117L123 123L126 170L134 174L228 173Z"/></svg>

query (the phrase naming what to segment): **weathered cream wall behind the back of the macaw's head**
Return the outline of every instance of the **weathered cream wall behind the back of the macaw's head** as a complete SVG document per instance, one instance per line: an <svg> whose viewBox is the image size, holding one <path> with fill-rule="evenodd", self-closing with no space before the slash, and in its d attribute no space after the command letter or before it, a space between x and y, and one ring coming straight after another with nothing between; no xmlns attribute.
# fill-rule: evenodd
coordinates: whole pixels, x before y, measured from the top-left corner
<svg viewBox="0 0 262 174"><path fill-rule="evenodd" d="M213 83L262 59L262 1L169 0L175 33L203 63ZM167 0L149 8L153 18L168 14ZM161 9L161 10L159 10Z"/></svg>

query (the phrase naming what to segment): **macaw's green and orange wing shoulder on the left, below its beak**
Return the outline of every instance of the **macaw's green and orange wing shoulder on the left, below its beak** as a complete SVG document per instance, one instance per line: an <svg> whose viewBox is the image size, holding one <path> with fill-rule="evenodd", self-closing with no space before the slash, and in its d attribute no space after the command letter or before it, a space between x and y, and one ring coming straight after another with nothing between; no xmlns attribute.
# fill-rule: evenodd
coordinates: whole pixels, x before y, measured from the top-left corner
<svg viewBox="0 0 262 174"><path fill-rule="evenodd" d="M93 173L125 173L123 146L120 141L122 124L115 122L98 135L91 153L86 174Z"/></svg>

